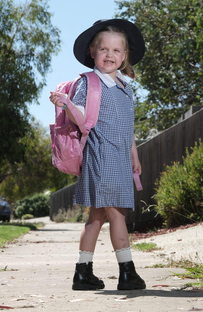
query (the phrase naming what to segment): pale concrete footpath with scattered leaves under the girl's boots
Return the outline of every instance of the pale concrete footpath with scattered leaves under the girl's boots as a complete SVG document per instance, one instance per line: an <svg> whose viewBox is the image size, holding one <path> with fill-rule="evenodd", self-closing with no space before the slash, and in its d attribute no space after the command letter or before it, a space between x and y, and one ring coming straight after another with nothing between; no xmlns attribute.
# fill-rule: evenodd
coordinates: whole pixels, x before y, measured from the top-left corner
<svg viewBox="0 0 203 312"><path fill-rule="evenodd" d="M18 311L26 308L27 312L33 309L51 312L203 311L203 301L200 300L203 292L177 290L192 280L177 277L161 280L170 275L170 271L181 273L183 269L145 268L166 262L163 250L156 253L132 250L136 271L146 281L147 288L118 291L118 264L111 246L108 224L102 227L93 256L94 274L104 280L105 288L72 290L79 237L84 223L55 223L49 217L40 220L45 222L45 227L30 231L0 249L0 268L7 266L7 271L0 271L0 306L18 308ZM174 239L177 240L177 237ZM155 285L168 287L153 287Z"/></svg>

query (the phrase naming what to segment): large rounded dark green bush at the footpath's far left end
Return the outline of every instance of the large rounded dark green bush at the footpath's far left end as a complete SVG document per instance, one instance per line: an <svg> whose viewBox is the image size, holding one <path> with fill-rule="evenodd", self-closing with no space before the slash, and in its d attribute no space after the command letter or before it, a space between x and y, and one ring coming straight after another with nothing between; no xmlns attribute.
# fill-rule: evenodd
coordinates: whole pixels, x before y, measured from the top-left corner
<svg viewBox="0 0 203 312"><path fill-rule="evenodd" d="M21 218L25 214L32 214L35 217L49 215L50 202L49 195L36 193L32 196L26 196L17 201L15 214Z"/></svg>

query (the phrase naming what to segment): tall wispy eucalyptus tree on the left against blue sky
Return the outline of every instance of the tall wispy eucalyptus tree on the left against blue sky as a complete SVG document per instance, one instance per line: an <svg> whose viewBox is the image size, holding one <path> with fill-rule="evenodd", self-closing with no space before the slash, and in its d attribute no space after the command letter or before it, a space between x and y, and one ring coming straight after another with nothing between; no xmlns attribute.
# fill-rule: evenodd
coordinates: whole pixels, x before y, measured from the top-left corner
<svg viewBox="0 0 203 312"><path fill-rule="evenodd" d="M46 0L16 4L0 1L0 164L26 161L32 137L28 105L35 102L60 48L60 31L51 22Z"/></svg>

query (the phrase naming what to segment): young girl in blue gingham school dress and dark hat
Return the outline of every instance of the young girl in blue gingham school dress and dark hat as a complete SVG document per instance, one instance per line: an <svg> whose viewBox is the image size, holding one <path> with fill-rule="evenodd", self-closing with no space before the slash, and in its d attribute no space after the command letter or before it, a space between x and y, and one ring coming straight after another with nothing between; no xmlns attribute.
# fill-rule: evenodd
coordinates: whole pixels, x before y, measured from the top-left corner
<svg viewBox="0 0 203 312"><path fill-rule="evenodd" d="M135 100L123 75L135 78L133 65L145 53L140 30L123 19L101 20L75 41L74 55L100 77L102 98L97 124L91 129L83 150L82 173L74 203L90 206L90 214L80 236L78 263L73 290L103 289L104 283L93 275L92 258L100 229L106 219L110 224L111 243L119 265L118 290L146 288L136 273L125 223L125 211L134 211L132 173L141 164L134 140ZM72 105L84 115L87 78L79 80ZM59 95L50 100L62 107ZM66 107L68 117L76 123Z"/></svg>

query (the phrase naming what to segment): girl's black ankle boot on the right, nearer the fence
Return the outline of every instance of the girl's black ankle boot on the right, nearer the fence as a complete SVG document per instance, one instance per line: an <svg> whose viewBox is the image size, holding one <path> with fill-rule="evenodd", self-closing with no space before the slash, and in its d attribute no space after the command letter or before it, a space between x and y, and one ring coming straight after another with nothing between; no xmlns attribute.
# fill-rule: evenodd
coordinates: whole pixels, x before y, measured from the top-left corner
<svg viewBox="0 0 203 312"><path fill-rule="evenodd" d="M136 273L133 261L119 263L118 290L145 289L145 281Z"/></svg>

